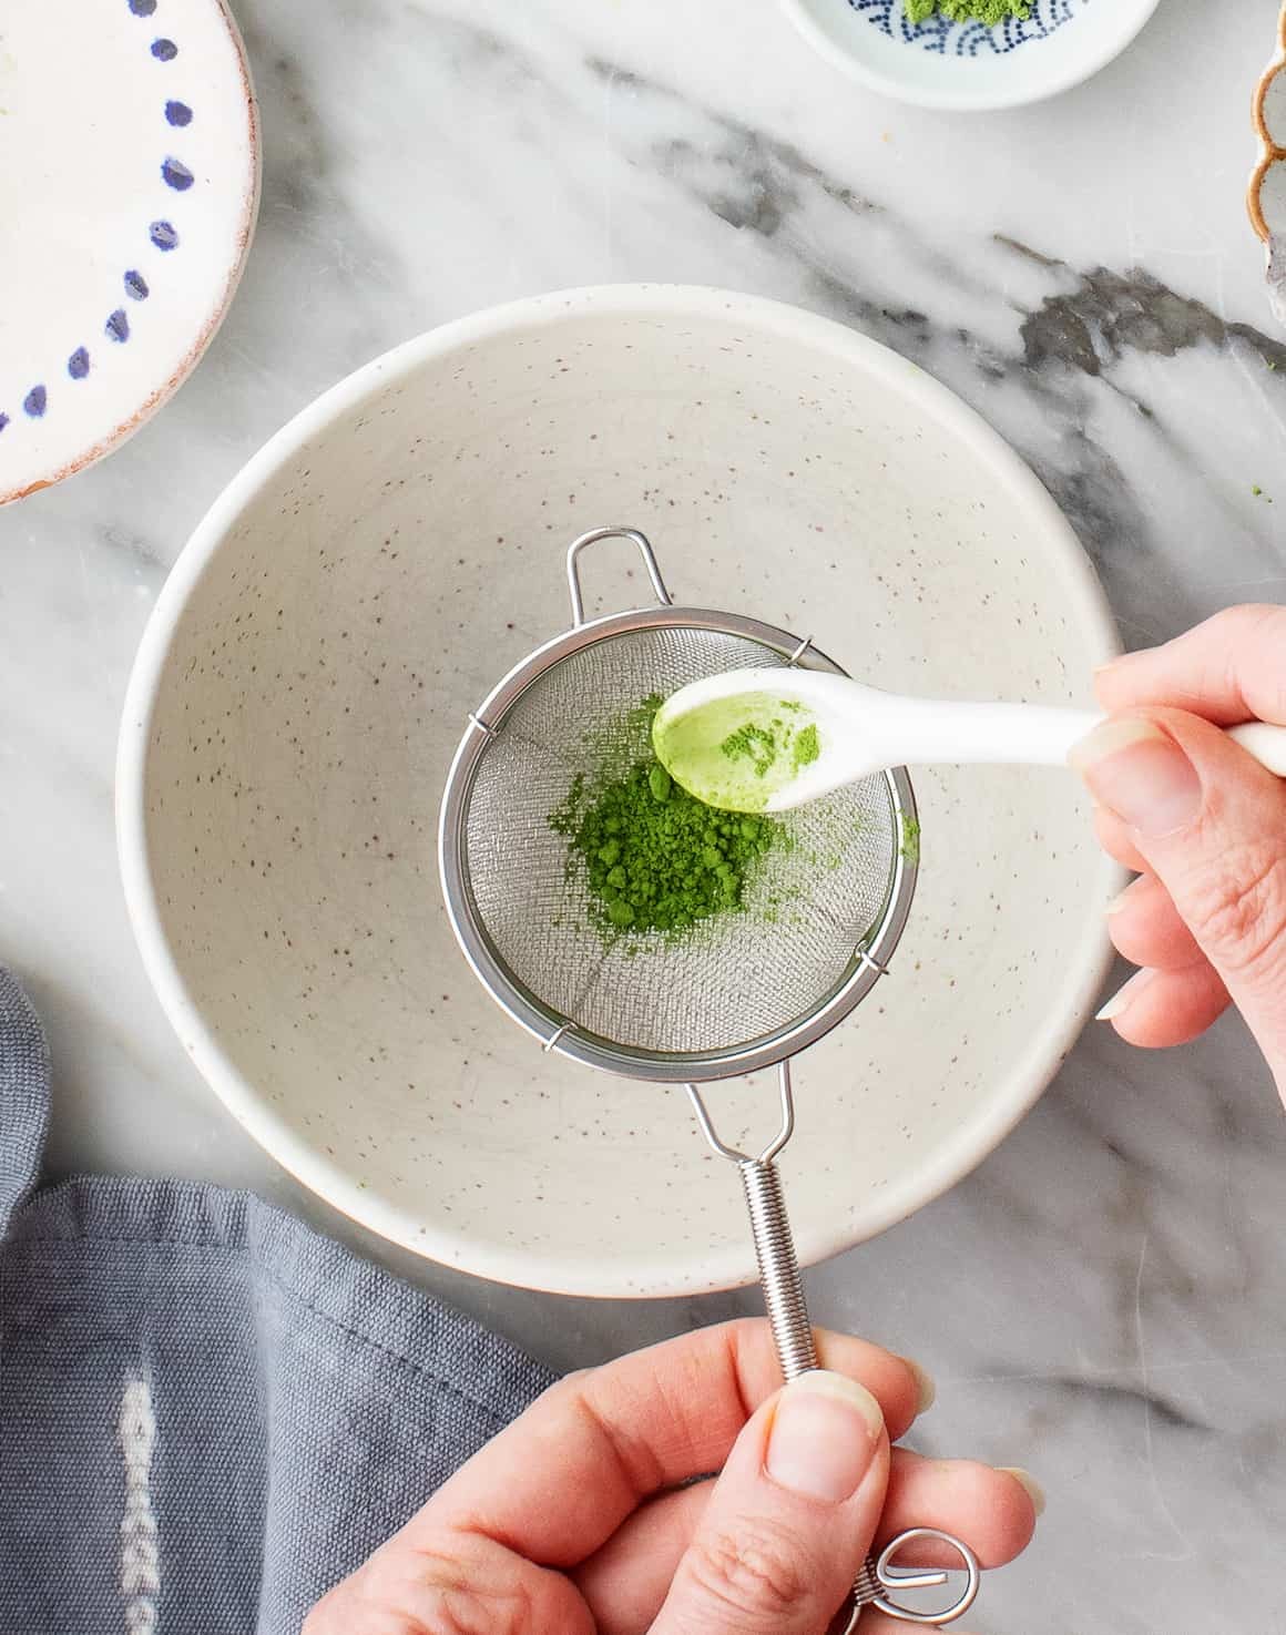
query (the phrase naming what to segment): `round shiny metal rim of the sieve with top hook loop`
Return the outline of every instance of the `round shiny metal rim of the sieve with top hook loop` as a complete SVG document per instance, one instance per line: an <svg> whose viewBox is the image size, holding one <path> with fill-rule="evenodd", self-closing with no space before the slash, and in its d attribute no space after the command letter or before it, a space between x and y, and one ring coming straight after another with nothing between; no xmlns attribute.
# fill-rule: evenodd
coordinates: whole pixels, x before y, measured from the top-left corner
<svg viewBox="0 0 1286 1635"><path fill-rule="evenodd" d="M587 546L607 538L625 538L640 551L656 594L656 605L586 620L578 559ZM838 675L846 672L815 647L812 639L794 636L776 625L717 608L674 607L651 544L635 528L594 528L581 535L568 549L568 582L573 628L537 647L488 693L470 713L468 728L452 759L438 824L438 871L452 930L483 988L514 1022L540 1040L545 1051L558 1051L573 1061L622 1077L658 1084L705 1084L774 1068L830 1033L887 974L915 896L918 875L915 855L906 855L905 847L897 849L884 911L867 937L854 945L848 974L820 999L816 1007L769 1035L725 1050L653 1051L618 1045L582 1028L574 1017L560 1015L545 1004L509 970L488 935L470 886L466 842L470 796L483 757L504 731L506 719L527 690L555 665L615 636L650 629L700 629L759 643L777 657L785 659L787 665L807 665ZM884 773L884 780L895 824L898 827L915 824L916 803L906 770L903 767L890 768Z"/></svg>

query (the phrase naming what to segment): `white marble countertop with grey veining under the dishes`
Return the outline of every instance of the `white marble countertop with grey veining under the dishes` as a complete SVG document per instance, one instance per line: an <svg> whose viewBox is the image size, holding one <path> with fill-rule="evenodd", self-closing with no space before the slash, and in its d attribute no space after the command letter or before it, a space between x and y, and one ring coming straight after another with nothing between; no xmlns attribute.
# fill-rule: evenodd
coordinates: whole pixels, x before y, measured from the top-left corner
<svg viewBox="0 0 1286 1635"><path fill-rule="evenodd" d="M1065 507L1131 644L1281 597L1286 334L1242 199L1276 0L1219 26L1163 0L1093 83L993 116L856 90L771 0L234 8L265 139L242 291L157 420L0 515L0 958L51 1028L49 1169L252 1187L556 1365L756 1310L479 1283L252 1146L126 924L111 775L139 633L209 500L324 386L443 319L622 280L795 301L936 373ZM1235 1020L1150 1058L1091 1028L977 1174L810 1287L820 1323L938 1375L920 1447L1049 1488L978 1628L1286 1630L1286 1120Z"/></svg>

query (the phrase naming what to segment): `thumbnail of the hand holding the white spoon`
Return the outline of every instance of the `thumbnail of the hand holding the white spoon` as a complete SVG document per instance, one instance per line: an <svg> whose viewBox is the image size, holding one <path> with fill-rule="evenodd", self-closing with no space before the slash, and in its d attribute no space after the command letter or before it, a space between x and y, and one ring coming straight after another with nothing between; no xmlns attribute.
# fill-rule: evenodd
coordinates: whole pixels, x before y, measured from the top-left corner
<svg viewBox="0 0 1286 1635"><path fill-rule="evenodd" d="M1068 760L1095 800L1147 839L1186 827L1201 808L1196 768L1152 721L1104 721Z"/></svg>

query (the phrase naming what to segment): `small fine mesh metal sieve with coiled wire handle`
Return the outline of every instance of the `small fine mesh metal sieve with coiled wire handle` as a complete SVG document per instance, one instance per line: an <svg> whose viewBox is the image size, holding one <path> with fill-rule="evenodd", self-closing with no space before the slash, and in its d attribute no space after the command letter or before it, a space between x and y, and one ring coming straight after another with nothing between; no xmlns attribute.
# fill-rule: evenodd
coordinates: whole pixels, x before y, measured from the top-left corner
<svg viewBox="0 0 1286 1635"><path fill-rule="evenodd" d="M581 553L628 540L656 607L586 621ZM905 770L782 814L787 844L761 860L743 912L663 932L605 937L584 873L550 822L578 777L628 768L650 752L646 701L736 669L836 670L810 641L735 613L676 608L646 538L596 528L568 551L574 628L546 643L470 716L442 801L438 862L460 947L488 992L546 1050L627 1077L677 1082L705 1140L736 1164L759 1279L787 1380L818 1367L776 1158L795 1122L790 1056L830 1032L885 974L915 891L918 835ZM697 1084L779 1068L780 1128L758 1154L715 1133ZM906 1571L900 1550L931 1542L965 1575L946 1610L893 1599L944 1571ZM978 1592L969 1545L916 1527L870 1557L833 1628L852 1635L867 1606L941 1627Z"/></svg>

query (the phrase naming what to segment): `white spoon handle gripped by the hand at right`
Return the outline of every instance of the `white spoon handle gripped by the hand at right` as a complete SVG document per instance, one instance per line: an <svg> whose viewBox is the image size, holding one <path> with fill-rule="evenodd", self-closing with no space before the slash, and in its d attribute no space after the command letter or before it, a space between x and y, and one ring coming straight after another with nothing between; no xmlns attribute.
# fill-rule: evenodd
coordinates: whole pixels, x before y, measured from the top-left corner
<svg viewBox="0 0 1286 1635"><path fill-rule="evenodd" d="M936 703L898 723L905 765L949 764L1057 767L1104 716L1093 710L1047 705ZM1266 721L1234 726L1227 734L1276 777L1286 777L1286 728Z"/></svg>

